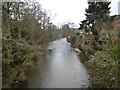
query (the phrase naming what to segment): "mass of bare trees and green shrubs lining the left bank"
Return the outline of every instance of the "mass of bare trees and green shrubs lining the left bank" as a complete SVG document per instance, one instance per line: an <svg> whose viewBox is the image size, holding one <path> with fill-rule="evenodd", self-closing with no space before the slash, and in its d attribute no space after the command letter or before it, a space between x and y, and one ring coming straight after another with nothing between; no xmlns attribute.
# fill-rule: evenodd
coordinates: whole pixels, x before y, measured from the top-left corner
<svg viewBox="0 0 120 90"><path fill-rule="evenodd" d="M43 54L40 49L52 40L47 27L53 24L37 2L3 2L2 16L2 81L9 88L26 80L27 70Z"/></svg>

